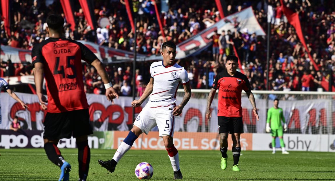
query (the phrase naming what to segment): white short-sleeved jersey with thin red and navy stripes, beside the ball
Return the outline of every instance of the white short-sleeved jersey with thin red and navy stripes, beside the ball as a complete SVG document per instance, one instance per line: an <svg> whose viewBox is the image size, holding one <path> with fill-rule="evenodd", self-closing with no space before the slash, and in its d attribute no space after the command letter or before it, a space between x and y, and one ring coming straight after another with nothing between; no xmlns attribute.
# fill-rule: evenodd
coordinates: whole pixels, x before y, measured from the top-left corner
<svg viewBox="0 0 335 181"><path fill-rule="evenodd" d="M156 106L173 105L177 100L179 84L185 85L189 81L187 71L177 63L164 66L163 61L153 62L150 75L153 78L153 89L149 103Z"/></svg>

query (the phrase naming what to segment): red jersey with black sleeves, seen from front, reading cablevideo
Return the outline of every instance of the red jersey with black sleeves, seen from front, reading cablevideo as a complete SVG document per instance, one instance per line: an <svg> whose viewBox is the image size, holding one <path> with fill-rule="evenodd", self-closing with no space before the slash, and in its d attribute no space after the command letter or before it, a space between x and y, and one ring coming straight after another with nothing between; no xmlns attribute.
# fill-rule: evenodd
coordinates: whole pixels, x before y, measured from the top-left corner
<svg viewBox="0 0 335 181"><path fill-rule="evenodd" d="M219 88L218 116L242 117L241 94L242 90L250 91L250 82L246 75L236 72L230 76L227 70L218 73L212 88Z"/></svg>

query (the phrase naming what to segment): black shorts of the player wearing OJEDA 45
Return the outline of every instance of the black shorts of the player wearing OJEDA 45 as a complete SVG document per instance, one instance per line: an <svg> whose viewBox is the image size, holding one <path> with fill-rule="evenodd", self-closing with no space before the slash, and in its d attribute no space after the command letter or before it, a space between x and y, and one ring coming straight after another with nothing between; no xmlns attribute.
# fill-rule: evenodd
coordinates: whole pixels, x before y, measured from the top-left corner
<svg viewBox="0 0 335 181"><path fill-rule="evenodd" d="M88 109L47 113L44 119L43 138L58 140L92 134Z"/></svg>

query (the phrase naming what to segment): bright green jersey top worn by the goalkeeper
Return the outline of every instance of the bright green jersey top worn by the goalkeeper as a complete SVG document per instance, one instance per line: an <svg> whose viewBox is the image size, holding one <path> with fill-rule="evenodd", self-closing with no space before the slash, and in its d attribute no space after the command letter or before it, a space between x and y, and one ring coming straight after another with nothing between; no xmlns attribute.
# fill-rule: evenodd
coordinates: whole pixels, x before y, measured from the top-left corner
<svg viewBox="0 0 335 181"><path fill-rule="evenodd" d="M268 110L268 118L266 119L266 122L269 123L271 120L270 127L271 129L282 129L281 121L285 123L285 118L283 115L283 109L278 108L275 109L274 107L270 108Z"/></svg>

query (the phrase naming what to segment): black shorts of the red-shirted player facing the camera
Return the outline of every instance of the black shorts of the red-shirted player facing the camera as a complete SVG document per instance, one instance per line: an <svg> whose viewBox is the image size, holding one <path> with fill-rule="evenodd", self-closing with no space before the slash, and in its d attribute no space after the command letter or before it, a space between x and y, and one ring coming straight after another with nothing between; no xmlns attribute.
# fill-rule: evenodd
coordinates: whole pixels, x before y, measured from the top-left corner
<svg viewBox="0 0 335 181"><path fill-rule="evenodd" d="M225 117L218 116L217 124L220 133L243 133L243 120L242 117Z"/></svg>

